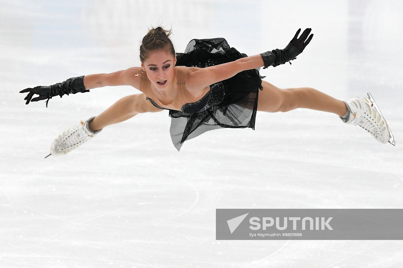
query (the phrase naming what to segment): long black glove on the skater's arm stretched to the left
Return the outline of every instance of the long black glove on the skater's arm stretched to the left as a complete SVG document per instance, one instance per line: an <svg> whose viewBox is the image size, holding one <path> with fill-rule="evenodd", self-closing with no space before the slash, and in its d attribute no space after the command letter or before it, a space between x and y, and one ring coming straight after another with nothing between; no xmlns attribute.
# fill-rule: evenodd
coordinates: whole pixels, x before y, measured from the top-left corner
<svg viewBox="0 0 403 268"><path fill-rule="evenodd" d="M75 94L78 92L89 92L89 90L86 90L84 87L84 75L79 76L79 77L73 77L69 78L64 82L57 83L51 86L37 86L32 88L27 88L23 89L20 91L20 93L28 93L27 97L25 97L25 100L27 101L28 104L30 101L40 101L42 99L48 99L46 101L46 107L48 107L48 101L52 99L52 97L55 97L57 95L60 96L60 98L63 95L69 95L70 93ZM37 94L39 97L35 97L32 99L33 95Z"/></svg>

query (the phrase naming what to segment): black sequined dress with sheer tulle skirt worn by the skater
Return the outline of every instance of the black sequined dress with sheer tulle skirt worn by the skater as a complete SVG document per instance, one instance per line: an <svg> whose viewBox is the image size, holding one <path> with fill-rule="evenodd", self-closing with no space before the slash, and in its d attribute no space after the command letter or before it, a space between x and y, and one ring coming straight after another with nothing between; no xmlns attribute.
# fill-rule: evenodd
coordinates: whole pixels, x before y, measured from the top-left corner
<svg viewBox="0 0 403 268"><path fill-rule="evenodd" d="M192 39L185 53L177 53L177 66L208 66L247 57L224 38ZM210 85L209 99L202 109L193 112L170 110L170 135L179 151L183 142L219 128L255 129L259 89L263 90L260 68L239 72Z"/></svg>

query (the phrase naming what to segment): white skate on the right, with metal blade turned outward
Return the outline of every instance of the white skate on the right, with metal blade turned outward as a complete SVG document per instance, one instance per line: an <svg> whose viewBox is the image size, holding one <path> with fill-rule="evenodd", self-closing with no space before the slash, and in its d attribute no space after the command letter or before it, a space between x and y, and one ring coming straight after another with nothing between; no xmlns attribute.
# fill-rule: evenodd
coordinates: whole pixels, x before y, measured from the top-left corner
<svg viewBox="0 0 403 268"><path fill-rule="evenodd" d="M346 116L340 117L343 122L360 126L379 142L389 142L395 146L395 138L369 92L368 98L352 98L343 102L349 111Z"/></svg>

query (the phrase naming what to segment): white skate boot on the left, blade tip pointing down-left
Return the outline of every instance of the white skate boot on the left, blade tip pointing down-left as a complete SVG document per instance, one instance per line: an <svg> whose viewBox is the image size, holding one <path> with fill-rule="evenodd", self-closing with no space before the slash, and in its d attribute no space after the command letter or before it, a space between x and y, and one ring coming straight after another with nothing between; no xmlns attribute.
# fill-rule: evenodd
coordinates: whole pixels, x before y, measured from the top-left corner
<svg viewBox="0 0 403 268"><path fill-rule="evenodd" d="M87 140L90 140L96 134L101 132L103 128L97 130L96 132L93 132L89 129L88 127L89 122L94 118L95 116L89 118L85 122L81 121L80 124L73 126L72 128L69 128L68 130L60 134L50 146L49 155L53 156L65 155L66 153L69 153L70 151L74 150L75 148L77 148L78 146L80 146Z"/></svg>

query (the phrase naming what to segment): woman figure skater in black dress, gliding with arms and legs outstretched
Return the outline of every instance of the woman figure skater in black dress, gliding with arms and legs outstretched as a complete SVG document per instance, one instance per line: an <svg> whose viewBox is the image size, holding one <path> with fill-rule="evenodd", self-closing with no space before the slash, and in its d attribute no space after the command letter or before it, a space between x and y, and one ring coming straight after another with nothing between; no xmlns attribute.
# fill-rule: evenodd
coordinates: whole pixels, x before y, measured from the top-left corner
<svg viewBox="0 0 403 268"><path fill-rule="evenodd" d="M208 130L246 127L254 130L256 111L286 112L296 108L335 113L344 123L361 126L379 142L395 145L370 93L368 98L357 97L346 102L313 88L279 89L262 80L265 76L259 75L260 67L276 67L294 60L310 43L313 34L307 37L311 29L305 29L297 38L300 31L285 49L247 57L230 47L224 38L193 39L185 53L175 53L168 38L170 31L157 27L143 37L141 67L69 78L20 93L28 92L26 104L47 99L48 107L52 97L89 92L98 87L131 85L142 92L123 97L100 115L64 131L50 147L50 155L54 156L77 148L106 126L139 113L163 109L169 110L170 135L178 151L185 140ZM34 94L39 97L32 99Z"/></svg>

